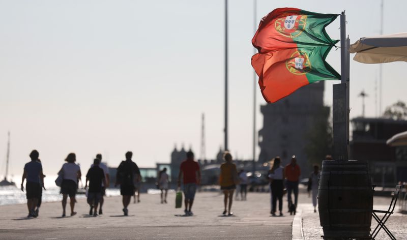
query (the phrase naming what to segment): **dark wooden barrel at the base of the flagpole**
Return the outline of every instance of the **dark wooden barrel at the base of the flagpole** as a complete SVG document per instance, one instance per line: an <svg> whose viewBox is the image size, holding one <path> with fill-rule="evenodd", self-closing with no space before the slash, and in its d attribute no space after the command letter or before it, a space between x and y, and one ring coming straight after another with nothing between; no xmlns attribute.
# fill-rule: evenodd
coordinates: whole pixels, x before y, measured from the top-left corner
<svg viewBox="0 0 407 240"><path fill-rule="evenodd" d="M369 237L373 189L366 161L323 161L318 187L324 238Z"/></svg>

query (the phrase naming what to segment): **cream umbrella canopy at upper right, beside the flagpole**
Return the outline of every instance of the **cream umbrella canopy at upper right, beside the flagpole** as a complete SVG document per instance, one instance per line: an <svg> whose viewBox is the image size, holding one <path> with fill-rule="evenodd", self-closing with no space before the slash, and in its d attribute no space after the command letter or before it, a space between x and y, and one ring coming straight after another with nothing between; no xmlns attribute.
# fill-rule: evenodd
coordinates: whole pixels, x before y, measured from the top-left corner
<svg viewBox="0 0 407 240"><path fill-rule="evenodd" d="M361 38L349 50L356 53L353 59L360 63L407 62L407 33Z"/></svg>

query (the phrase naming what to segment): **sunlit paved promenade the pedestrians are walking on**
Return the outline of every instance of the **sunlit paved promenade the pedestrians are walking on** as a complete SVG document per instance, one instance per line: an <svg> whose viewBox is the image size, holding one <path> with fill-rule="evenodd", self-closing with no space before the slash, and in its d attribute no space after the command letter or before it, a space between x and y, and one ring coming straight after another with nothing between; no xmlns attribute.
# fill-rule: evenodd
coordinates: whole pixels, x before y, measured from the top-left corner
<svg viewBox="0 0 407 240"><path fill-rule="evenodd" d="M270 195L249 193L247 201L235 201L235 216L223 217L223 196L197 193L192 211L185 217L175 208L175 194L168 204L160 196L141 195L124 217L121 197L108 197L104 214L90 217L84 199L75 206L76 216L61 218L61 202L43 203L40 216L26 219L26 205L0 206L0 239L292 239L294 216L270 217ZM67 209L69 205L67 206Z"/></svg>

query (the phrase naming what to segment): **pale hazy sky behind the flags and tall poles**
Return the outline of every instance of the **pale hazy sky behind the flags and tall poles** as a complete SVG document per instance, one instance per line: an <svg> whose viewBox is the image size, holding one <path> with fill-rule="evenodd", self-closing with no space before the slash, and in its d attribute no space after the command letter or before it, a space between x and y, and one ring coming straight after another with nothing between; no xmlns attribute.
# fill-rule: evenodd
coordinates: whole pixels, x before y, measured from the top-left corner
<svg viewBox="0 0 407 240"><path fill-rule="evenodd" d="M346 10L351 43L380 33L380 0L257 2L257 23L278 7ZM405 32L406 7L385 1L384 34ZM338 28L339 17L327 28L333 39ZM253 1L229 0L229 148L245 159L252 155L253 33ZM327 61L340 72L339 50ZM407 101L406 66L383 66L383 109ZM351 62L351 117L361 114L362 89L367 115L376 114L378 69ZM333 83L326 82L327 105ZM223 144L223 93L224 1L0 0L0 175L8 130L13 174L34 148L48 174L70 152L83 168L96 153L116 166L128 150L139 166L154 166L169 162L175 144L199 157L202 112L207 158L214 158ZM259 89L257 103L260 129Z"/></svg>

